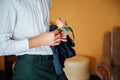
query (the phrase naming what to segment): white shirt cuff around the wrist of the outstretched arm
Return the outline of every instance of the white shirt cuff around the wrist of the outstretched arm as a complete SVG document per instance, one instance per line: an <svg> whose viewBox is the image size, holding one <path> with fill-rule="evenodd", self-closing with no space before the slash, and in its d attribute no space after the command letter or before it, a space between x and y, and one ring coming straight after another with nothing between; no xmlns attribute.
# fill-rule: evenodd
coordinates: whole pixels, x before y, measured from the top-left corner
<svg viewBox="0 0 120 80"><path fill-rule="evenodd" d="M15 41L15 47L17 52L24 52L29 50L28 39Z"/></svg>

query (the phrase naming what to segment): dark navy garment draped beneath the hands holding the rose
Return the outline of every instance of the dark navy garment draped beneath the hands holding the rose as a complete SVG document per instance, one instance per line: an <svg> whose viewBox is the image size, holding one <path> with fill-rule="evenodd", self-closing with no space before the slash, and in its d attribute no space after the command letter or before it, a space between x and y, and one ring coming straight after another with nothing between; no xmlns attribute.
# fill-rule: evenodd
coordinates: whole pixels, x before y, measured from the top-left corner
<svg viewBox="0 0 120 80"><path fill-rule="evenodd" d="M56 25L50 26L50 31L57 28ZM64 62L66 58L70 58L76 55L73 47L75 46L74 41L67 35L67 42L61 42L58 46L51 46L53 51L53 63L57 75L63 73Z"/></svg>

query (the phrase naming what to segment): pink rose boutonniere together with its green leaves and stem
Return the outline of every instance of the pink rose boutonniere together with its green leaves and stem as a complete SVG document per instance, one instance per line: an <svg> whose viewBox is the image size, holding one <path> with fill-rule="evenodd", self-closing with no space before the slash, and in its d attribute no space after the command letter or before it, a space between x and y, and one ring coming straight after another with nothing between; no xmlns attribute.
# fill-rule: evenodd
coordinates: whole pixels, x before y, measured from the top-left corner
<svg viewBox="0 0 120 80"><path fill-rule="evenodd" d="M68 26L68 24L66 23L66 21L64 21L63 19L59 18L56 21L56 25L58 27L57 28L58 30L63 31L67 35L69 34L69 31L71 31L72 35L73 35L73 39L74 39L74 32L73 32L72 28Z"/></svg>

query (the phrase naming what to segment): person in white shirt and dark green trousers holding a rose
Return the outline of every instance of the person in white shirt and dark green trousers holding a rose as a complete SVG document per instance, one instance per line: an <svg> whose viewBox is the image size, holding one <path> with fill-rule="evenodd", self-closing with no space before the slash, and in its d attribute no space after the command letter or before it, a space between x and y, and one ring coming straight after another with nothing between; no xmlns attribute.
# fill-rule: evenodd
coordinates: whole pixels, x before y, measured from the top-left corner
<svg viewBox="0 0 120 80"><path fill-rule="evenodd" d="M17 56L14 80L60 80L50 46L67 39L49 31L50 6L51 0L0 0L0 55Z"/></svg>

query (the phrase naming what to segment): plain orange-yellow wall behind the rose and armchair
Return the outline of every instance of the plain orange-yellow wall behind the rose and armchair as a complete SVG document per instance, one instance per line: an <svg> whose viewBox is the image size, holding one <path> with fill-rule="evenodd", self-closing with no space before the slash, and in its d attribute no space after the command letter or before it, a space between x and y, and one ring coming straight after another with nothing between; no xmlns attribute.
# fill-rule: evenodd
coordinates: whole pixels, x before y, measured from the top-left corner
<svg viewBox="0 0 120 80"><path fill-rule="evenodd" d="M76 52L91 59L91 73L102 54L103 34L120 26L119 0L52 0L51 21L62 17L75 32Z"/></svg>

